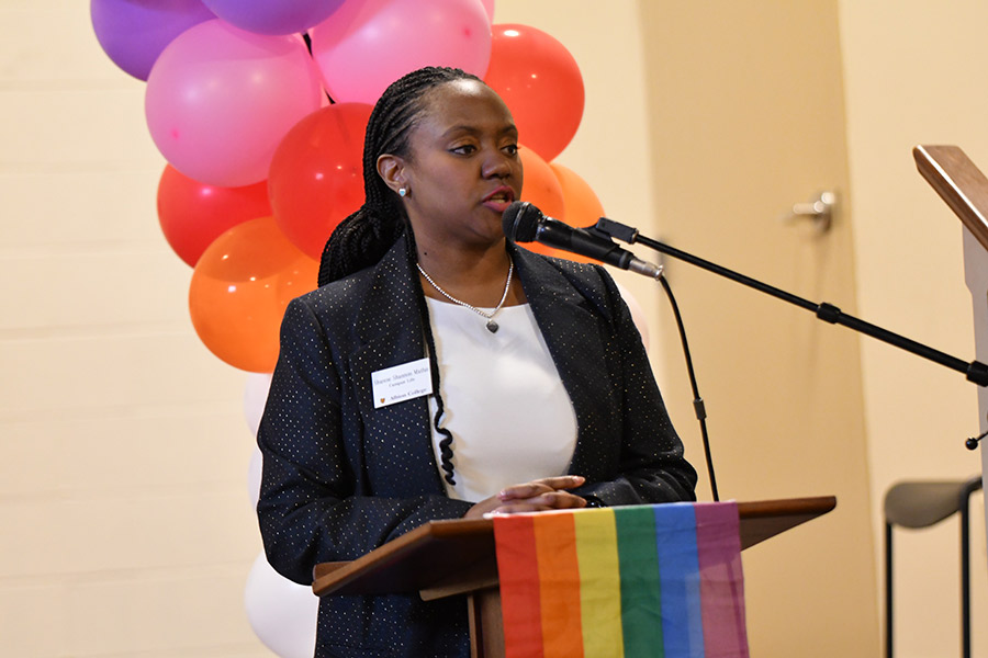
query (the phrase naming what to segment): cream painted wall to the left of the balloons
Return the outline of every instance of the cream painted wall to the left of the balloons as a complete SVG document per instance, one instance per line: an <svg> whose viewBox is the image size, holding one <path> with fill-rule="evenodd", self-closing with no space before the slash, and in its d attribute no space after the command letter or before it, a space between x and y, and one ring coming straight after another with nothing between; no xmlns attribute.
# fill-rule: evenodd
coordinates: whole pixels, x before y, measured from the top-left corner
<svg viewBox="0 0 988 658"><path fill-rule="evenodd" d="M0 654L266 656L245 377L192 331L144 84L88 2L0 4Z"/></svg>

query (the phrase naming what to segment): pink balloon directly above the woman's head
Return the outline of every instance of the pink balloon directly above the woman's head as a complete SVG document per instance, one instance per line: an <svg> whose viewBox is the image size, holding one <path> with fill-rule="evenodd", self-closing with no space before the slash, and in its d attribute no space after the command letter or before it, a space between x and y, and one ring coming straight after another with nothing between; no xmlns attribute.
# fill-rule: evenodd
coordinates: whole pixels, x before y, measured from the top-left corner
<svg viewBox="0 0 988 658"><path fill-rule="evenodd" d="M339 102L373 104L424 66L483 76L491 59L491 24L478 0L346 0L308 34L326 89Z"/></svg>

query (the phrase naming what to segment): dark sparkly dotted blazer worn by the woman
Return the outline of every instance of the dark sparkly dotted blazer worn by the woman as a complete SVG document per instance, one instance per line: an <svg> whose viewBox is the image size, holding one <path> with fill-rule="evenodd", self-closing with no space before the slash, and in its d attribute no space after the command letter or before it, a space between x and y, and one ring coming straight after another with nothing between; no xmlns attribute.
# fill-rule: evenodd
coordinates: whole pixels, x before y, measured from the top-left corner
<svg viewBox="0 0 988 658"><path fill-rule="evenodd" d="M614 281L600 266L507 248L576 412L570 473L587 481L574 492L606 506L694 500L696 473ZM377 265L285 311L258 431L257 511L268 560L296 582L471 507L445 494L427 398L380 409L371 399L371 373L426 355L414 271L402 238ZM325 597L316 645L317 657L469 656L464 600Z"/></svg>

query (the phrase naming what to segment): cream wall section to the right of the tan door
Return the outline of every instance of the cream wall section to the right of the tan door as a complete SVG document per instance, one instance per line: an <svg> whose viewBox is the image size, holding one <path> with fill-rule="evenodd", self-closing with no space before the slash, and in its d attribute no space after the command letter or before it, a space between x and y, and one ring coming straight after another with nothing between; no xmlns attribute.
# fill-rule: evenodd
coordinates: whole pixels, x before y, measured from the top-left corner
<svg viewBox="0 0 988 658"><path fill-rule="evenodd" d="M961 223L916 171L917 144L961 146L988 171L988 49L981 2L842 0L841 38L861 315L965 361L975 358ZM980 455L975 386L963 375L862 342L872 507L900 479L966 478ZM973 508L975 655L984 624L983 499ZM880 531L875 525L876 533ZM958 524L896 541L899 656L959 654Z"/></svg>

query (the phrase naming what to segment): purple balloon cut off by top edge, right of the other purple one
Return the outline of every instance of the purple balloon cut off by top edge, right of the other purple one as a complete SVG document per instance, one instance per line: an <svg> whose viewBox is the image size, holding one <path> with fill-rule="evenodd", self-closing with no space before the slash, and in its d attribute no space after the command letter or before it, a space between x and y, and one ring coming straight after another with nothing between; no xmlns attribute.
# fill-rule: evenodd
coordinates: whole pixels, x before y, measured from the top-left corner
<svg viewBox="0 0 988 658"><path fill-rule="evenodd" d="M202 0L242 30L257 34L305 32L332 14L344 0Z"/></svg>

